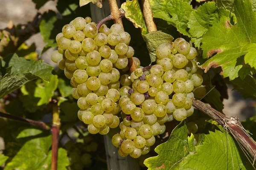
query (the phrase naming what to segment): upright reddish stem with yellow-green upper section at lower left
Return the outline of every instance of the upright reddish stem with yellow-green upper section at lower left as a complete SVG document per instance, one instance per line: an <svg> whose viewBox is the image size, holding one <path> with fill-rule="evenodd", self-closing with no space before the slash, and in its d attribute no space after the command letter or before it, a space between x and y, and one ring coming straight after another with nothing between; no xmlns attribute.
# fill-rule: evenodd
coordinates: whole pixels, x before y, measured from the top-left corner
<svg viewBox="0 0 256 170"><path fill-rule="evenodd" d="M58 137L61 121L59 118L59 109L56 100L52 100L52 165L51 170L57 170L58 160Z"/></svg>

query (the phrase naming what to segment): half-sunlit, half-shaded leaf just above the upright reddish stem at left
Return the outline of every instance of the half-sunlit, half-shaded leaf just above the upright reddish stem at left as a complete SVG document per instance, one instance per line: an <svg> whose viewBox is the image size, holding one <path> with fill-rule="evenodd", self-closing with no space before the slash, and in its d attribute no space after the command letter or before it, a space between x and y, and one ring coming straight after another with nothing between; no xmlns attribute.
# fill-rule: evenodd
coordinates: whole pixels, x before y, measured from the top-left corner
<svg viewBox="0 0 256 170"><path fill-rule="evenodd" d="M27 83L21 88L23 95L20 96L20 99L23 102L23 106L29 112L42 110L49 103L57 86L57 75L52 76L50 82L38 80L37 82Z"/></svg>

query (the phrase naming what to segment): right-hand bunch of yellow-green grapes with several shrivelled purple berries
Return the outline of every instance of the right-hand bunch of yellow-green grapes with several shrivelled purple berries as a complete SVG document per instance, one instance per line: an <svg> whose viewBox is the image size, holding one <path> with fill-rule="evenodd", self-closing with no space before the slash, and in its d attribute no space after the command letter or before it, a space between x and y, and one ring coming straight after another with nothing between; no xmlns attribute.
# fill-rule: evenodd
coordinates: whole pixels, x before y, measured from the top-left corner
<svg viewBox="0 0 256 170"><path fill-rule="evenodd" d="M119 90L123 122L112 143L120 156L139 158L147 154L155 143L154 136L165 132L164 123L193 114L193 91L197 90L199 97L205 94L195 60L197 51L189 42L177 38L161 44L156 55L157 65L137 68L130 76L132 88Z"/></svg>

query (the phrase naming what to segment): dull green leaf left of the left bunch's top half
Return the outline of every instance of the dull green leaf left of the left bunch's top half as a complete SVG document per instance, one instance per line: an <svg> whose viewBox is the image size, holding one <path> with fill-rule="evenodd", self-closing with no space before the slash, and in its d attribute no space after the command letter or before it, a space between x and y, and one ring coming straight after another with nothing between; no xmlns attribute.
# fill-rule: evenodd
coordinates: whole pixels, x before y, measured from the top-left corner
<svg viewBox="0 0 256 170"><path fill-rule="evenodd" d="M9 74L31 73L47 82L49 82L50 77L52 76L52 66L44 63L43 60L26 60L23 57L18 57L17 54L9 56L8 59L10 60L6 67L11 67L8 71Z"/></svg>

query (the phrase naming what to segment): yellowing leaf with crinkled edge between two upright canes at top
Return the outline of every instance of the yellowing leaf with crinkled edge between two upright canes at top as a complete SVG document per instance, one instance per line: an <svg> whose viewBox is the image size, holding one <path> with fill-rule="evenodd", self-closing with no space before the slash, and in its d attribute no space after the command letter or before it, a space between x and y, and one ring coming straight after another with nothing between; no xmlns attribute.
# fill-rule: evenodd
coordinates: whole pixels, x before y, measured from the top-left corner
<svg viewBox="0 0 256 170"><path fill-rule="evenodd" d="M122 3L121 8L125 11L125 17L131 21L136 28L142 28L142 34L148 33L138 0L127 0L125 3Z"/></svg>

